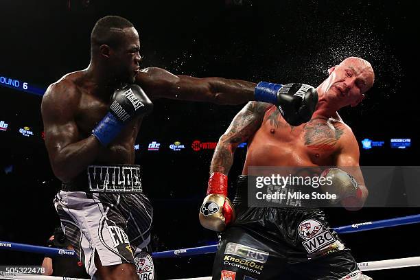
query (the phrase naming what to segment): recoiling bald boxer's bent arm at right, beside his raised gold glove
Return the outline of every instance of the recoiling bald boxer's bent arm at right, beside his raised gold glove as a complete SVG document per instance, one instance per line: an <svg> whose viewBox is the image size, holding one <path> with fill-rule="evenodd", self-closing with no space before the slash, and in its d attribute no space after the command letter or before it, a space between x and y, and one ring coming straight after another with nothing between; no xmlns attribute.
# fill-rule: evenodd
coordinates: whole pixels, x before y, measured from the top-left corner
<svg viewBox="0 0 420 280"><path fill-rule="evenodd" d="M344 135L340 139L340 151L336 156L336 166L345 172L351 174L358 182L359 188L362 191L362 196L356 205L343 205L347 210L358 210L363 207L369 191L364 184L363 174L359 166L359 145L355 139L350 128L346 129ZM353 201L354 202L354 201Z"/></svg>

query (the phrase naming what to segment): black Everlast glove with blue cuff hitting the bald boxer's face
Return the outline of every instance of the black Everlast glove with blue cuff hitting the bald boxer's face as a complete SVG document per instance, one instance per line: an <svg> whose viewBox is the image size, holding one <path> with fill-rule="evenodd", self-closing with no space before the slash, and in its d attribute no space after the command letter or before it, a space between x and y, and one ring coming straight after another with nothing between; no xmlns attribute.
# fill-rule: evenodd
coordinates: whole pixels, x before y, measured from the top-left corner
<svg viewBox="0 0 420 280"><path fill-rule="evenodd" d="M254 94L256 101L275 104L285 121L292 126L310 121L318 104L316 89L307 84L259 82Z"/></svg>

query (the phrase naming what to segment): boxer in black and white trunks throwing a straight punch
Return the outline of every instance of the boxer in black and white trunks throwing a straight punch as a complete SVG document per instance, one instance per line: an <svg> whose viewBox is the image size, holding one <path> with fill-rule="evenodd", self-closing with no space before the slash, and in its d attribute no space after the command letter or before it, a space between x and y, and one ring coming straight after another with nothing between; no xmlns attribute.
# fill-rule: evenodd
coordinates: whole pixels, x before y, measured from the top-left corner
<svg viewBox="0 0 420 280"><path fill-rule="evenodd" d="M139 49L130 21L100 19L91 33L89 67L51 84L41 106L51 167L62 181L54 204L67 239L94 279L154 277L147 254L152 207L133 164L135 139L152 100L261 100L276 104L293 124L309 120L318 101L316 90L305 84L283 87L140 69Z"/></svg>

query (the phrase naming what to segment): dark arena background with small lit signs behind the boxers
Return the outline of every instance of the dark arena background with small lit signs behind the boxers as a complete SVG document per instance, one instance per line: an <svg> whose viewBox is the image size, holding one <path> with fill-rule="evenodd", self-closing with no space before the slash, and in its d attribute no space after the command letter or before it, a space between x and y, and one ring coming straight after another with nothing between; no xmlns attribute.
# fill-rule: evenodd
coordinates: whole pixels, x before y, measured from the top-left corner
<svg viewBox="0 0 420 280"><path fill-rule="evenodd" d="M40 102L49 84L87 67L90 32L100 17L115 14L132 21L141 40L141 67L175 74L316 86L343 58L365 58L375 69L375 84L361 105L340 115L358 139L360 165L402 166L419 165L418 11L417 1L1 1L0 240L45 246L59 225L52 200L60 183L43 142ZM240 108L154 102L135 147L143 188L154 206L154 250L217 241L200 226L198 208L212 147ZM364 139L375 145L363 148ZM410 145L391 148L390 139L409 139L402 145ZM171 150L175 141L185 148ZM149 150L157 144L159 150ZM245 154L246 145L238 148L230 194ZM331 226L420 213L416 208L326 211ZM411 224L341 237L357 261L417 257L419 229ZM156 272L159 279L209 276L213 257L156 260ZM0 265L42 260L43 255L0 250ZM420 269L366 274L419 279Z"/></svg>

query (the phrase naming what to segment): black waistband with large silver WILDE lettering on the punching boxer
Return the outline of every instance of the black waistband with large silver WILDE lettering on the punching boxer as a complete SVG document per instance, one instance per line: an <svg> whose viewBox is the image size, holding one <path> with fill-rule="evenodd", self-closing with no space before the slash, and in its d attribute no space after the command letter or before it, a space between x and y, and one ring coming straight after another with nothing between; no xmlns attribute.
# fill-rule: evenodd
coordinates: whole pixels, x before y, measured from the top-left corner
<svg viewBox="0 0 420 280"><path fill-rule="evenodd" d="M141 193L139 165L89 165L69 183L62 183L63 191L106 193Z"/></svg>

